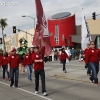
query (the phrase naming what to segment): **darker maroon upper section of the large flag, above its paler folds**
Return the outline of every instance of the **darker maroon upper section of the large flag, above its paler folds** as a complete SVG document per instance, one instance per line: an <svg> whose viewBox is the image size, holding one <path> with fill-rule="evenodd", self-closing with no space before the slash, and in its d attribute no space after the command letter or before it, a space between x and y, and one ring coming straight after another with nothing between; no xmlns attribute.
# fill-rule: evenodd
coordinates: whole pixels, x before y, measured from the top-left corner
<svg viewBox="0 0 100 100"><path fill-rule="evenodd" d="M46 22L46 18L45 18L45 15L44 15L44 11L43 11L41 1L35 0L35 3L36 3L36 13L37 13L38 23L46 28L47 22Z"/></svg>

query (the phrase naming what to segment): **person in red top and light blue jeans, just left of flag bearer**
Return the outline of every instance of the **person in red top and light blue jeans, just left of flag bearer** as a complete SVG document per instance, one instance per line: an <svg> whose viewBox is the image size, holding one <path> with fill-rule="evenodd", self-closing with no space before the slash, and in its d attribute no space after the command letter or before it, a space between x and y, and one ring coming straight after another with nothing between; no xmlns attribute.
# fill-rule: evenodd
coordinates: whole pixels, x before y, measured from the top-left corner
<svg viewBox="0 0 100 100"><path fill-rule="evenodd" d="M26 55L24 56L24 66L27 68L28 79L32 82L33 62L32 62L32 55L29 49L27 49Z"/></svg>

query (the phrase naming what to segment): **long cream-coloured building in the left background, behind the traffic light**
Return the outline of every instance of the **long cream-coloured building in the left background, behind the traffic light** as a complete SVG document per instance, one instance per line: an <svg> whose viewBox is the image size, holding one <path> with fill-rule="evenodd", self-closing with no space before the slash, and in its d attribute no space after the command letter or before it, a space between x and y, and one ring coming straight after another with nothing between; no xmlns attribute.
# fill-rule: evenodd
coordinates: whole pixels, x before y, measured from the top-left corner
<svg viewBox="0 0 100 100"><path fill-rule="evenodd" d="M22 37L24 37L28 41L28 47L33 47L32 41L33 41L34 29L29 29L29 30L26 30L25 32L14 33L9 36L6 36L5 37L6 51L11 50L12 47L15 47L15 48L20 47L19 40Z"/></svg>

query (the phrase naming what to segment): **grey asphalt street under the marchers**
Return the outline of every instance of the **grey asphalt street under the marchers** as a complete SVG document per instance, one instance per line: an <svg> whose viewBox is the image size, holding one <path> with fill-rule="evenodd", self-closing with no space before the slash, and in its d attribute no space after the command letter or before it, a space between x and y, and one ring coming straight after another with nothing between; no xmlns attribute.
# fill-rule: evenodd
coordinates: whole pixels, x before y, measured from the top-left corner
<svg viewBox="0 0 100 100"><path fill-rule="evenodd" d="M45 64L48 96L41 93L41 80L39 94L34 94L34 73L30 82L27 73L20 72L19 88L11 88L8 80L3 81L0 70L0 100L100 100L100 86L89 82L84 62L71 61L66 69L67 73L64 73L59 61ZM98 77L100 81L100 73Z"/></svg>

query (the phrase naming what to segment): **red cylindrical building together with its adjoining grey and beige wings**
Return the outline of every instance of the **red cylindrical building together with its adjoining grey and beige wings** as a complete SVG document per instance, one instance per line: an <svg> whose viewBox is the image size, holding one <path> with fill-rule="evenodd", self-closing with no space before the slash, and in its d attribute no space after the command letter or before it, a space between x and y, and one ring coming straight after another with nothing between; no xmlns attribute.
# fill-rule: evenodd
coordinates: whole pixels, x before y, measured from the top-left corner
<svg viewBox="0 0 100 100"><path fill-rule="evenodd" d="M100 48L100 19L86 19L92 40ZM61 12L48 18L48 31L52 47L81 48L81 25L76 26L75 14Z"/></svg>

